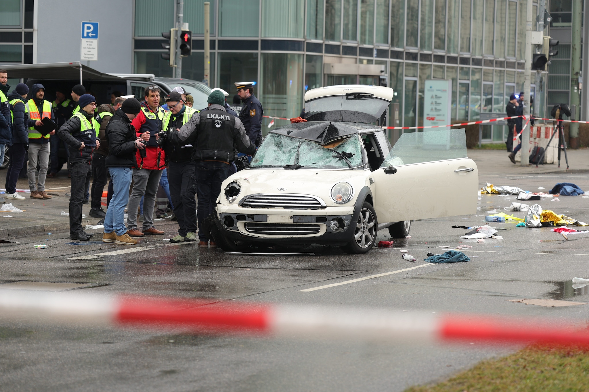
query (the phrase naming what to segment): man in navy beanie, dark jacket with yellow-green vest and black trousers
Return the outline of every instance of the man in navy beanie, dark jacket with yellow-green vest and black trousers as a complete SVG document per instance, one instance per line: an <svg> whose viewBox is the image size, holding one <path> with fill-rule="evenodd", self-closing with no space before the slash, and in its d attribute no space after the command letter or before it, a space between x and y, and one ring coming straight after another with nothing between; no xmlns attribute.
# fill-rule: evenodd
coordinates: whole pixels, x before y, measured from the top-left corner
<svg viewBox="0 0 589 392"><path fill-rule="evenodd" d="M100 140L96 137L92 118L96 102L90 94L84 94L78 101L80 111L75 113L58 130L58 136L70 147L70 238L72 240L87 241L92 234L84 232L82 228L82 202L86 193L86 182L92 175L90 165L95 149L100 147Z"/></svg>

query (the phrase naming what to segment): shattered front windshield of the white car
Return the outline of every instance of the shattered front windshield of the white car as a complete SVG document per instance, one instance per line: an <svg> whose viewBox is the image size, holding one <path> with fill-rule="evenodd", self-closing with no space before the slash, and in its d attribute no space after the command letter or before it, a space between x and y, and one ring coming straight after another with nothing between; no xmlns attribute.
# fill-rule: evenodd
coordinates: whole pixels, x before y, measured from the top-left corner
<svg viewBox="0 0 589 392"><path fill-rule="evenodd" d="M250 167L283 169L355 169L362 167L358 135L319 145L305 139L269 133Z"/></svg>

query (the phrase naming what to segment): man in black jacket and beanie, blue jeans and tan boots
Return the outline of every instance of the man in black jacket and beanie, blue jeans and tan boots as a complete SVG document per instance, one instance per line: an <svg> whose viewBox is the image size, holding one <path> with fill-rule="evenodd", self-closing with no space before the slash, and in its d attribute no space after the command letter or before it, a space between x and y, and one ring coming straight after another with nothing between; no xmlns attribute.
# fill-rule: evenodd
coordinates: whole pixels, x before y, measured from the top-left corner
<svg viewBox="0 0 589 392"><path fill-rule="evenodd" d="M111 176L113 192L104 218L103 242L137 244L137 240L127 234L124 216L133 179L133 168L137 168L135 152L145 149L143 139L137 136L135 127L131 125L131 120L140 111L139 101L128 98L112 115L104 130L105 138L108 140L108 155L104 163Z"/></svg>

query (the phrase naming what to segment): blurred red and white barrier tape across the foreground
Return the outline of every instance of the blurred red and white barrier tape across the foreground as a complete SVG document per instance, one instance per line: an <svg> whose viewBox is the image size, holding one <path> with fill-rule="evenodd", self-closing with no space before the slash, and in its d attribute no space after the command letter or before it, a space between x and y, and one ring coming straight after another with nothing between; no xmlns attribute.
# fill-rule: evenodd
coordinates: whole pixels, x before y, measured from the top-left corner
<svg viewBox="0 0 589 392"><path fill-rule="evenodd" d="M0 316L97 326L154 327L213 334L355 337L406 341L487 341L589 346L589 330L538 320L209 299L0 291Z"/></svg>

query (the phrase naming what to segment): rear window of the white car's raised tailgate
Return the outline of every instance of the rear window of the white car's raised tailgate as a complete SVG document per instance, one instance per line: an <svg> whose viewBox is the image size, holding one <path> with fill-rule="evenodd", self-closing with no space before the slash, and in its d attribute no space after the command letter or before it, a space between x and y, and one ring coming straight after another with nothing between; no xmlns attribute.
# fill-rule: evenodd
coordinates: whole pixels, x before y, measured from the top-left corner
<svg viewBox="0 0 589 392"><path fill-rule="evenodd" d="M388 107L388 100L370 93L326 96L305 102L305 118L309 121L373 123Z"/></svg>

